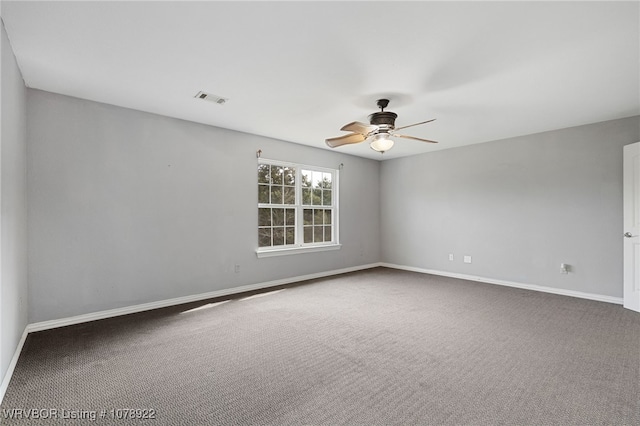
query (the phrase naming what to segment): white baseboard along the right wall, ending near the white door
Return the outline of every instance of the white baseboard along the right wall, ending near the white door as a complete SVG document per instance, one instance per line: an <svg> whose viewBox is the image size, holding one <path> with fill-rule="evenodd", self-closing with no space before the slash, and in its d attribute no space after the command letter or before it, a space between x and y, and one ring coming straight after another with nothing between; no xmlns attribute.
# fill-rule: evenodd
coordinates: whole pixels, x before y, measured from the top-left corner
<svg viewBox="0 0 640 426"><path fill-rule="evenodd" d="M522 288L525 290L540 291L543 293L559 294L562 296L571 296L571 297L577 297L580 299L597 300L598 302L607 302L607 303L614 303L616 305L622 305L621 297L605 296L602 294L594 294L594 293L584 293L582 291L564 290L561 288L545 287L545 286L534 285L534 284L524 284L524 283L518 283L514 281L496 280L493 278L484 278L484 277L478 277L475 275L458 274L455 272L438 271L434 269L416 268L413 266L395 265L393 263L383 262L383 263L380 263L380 266L384 266L385 268L420 272L422 274L440 275L443 277L459 278L462 280L477 281L477 282L486 283L486 284L503 285L506 287Z"/></svg>

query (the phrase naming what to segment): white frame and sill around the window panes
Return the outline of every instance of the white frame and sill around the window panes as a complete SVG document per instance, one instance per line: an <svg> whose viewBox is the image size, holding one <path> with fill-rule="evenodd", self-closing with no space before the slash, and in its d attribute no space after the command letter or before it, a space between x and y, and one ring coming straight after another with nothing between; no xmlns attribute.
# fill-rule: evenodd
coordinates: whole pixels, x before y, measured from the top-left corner
<svg viewBox="0 0 640 426"><path fill-rule="evenodd" d="M299 254L299 253L311 253L318 251L327 251L327 250L338 250L342 246L340 244L339 238L339 215L340 209L338 206L339 200L339 170L338 169L330 169L326 167L319 166L309 166L306 164L300 163L292 163L286 161L278 161L278 160L269 160L269 159L258 159L258 165L260 164L268 164L280 167L294 167L296 170L296 180L295 180L295 204L263 204L257 203L256 213L260 208L293 208L295 209L295 228L296 228L296 241L293 245L286 246L275 246L275 247L258 247L256 249L256 255L261 257L271 257L271 256L283 256L289 254ZM257 176L257 167L256 167L256 176ZM331 242L321 242L321 243L305 243L304 242L304 220L303 220L303 212L305 208L315 207L315 206L306 206L302 204L302 169L311 170L322 173L330 173L331 174ZM258 188L258 182L256 179L256 186ZM258 199L258 194L256 193L255 199ZM322 206L318 206L322 207ZM257 223L257 220L256 220ZM256 225L256 230L258 227ZM256 235L257 236L257 235Z"/></svg>

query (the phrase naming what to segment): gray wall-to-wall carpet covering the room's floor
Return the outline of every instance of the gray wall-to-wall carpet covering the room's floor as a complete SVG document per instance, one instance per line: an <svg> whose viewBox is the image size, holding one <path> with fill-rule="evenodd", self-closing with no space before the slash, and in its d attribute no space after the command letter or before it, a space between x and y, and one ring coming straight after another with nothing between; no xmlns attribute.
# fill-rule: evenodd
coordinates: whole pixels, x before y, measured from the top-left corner
<svg viewBox="0 0 640 426"><path fill-rule="evenodd" d="M2 423L640 424L621 306L384 268L212 302L31 334L2 409L97 420Z"/></svg>

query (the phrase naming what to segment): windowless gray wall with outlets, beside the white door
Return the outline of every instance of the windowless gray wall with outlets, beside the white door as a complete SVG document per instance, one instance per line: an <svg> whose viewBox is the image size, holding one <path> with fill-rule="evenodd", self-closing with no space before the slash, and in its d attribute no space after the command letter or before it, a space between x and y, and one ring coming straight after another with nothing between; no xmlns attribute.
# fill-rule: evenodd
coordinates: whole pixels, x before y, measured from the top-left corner
<svg viewBox="0 0 640 426"><path fill-rule="evenodd" d="M639 140L631 117L385 161L382 259L622 297L622 146Z"/></svg>

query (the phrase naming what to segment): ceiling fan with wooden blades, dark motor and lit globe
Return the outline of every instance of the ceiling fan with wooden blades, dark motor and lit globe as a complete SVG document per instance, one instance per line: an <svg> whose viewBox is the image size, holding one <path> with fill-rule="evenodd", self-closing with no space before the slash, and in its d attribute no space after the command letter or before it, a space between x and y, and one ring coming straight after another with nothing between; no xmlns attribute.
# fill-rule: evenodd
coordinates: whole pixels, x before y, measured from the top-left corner
<svg viewBox="0 0 640 426"><path fill-rule="evenodd" d="M345 132L352 132L348 135L339 136L337 138L326 139L325 142L331 148L337 148L342 145L348 145L352 143L360 143L369 141L369 146L374 151L384 153L393 147L393 140L390 137L413 139L421 142L438 143L429 139L416 138L415 136L399 135L397 130L406 129L408 127L418 126L420 124L429 123L434 121L435 118L427 121L421 121L420 123L409 124L408 126L395 127L395 121L398 114L391 111L385 111L384 109L389 105L388 99L378 99L377 102L380 112L374 112L369 116L369 123L365 124L359 121L354 121L342 126L340 130Z"/></svg>

